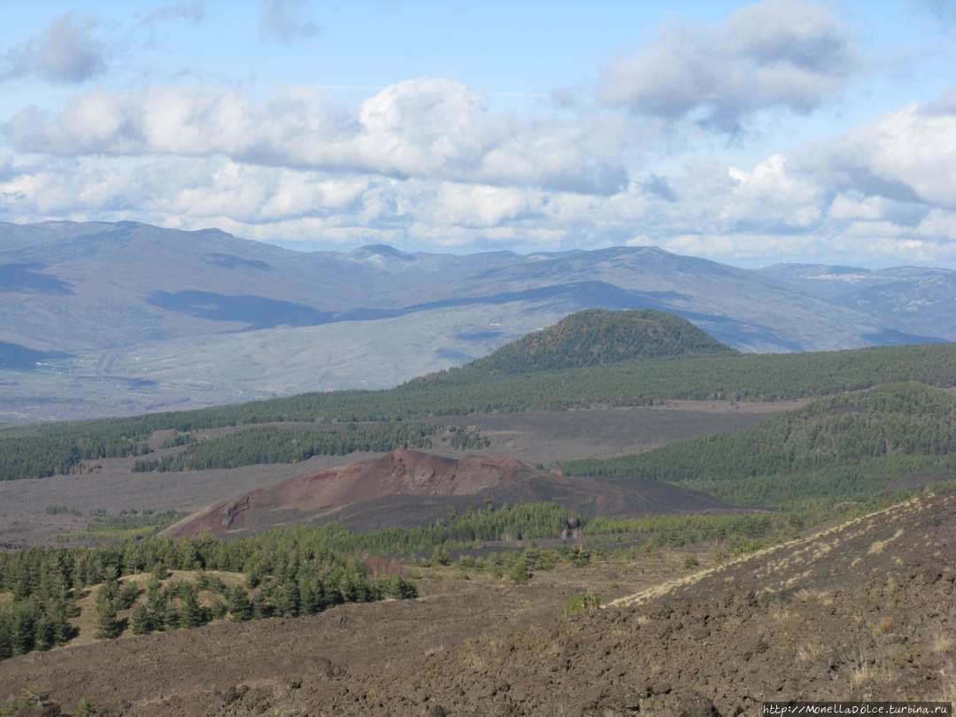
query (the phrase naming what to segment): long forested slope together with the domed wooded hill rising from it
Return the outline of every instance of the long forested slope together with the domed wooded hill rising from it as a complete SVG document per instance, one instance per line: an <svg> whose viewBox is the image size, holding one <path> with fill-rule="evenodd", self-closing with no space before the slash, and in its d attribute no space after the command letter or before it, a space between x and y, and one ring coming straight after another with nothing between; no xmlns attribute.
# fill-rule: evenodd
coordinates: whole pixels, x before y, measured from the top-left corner
<svg viewBox="0 0 956 717"><path fill-rule="evenodd" d="M584 321L592 315L597 315L595 321ZM605 315L611 318L605 320ZM194 411L0 430L0 480L69 473L85 461L100 458L141 456L150 452L146 439L167 429L185 432L273 422L384 423L478 412L641 406L673 400L782 401L900 381L956 386L954 344L736 354L676 316L661 312L619 315L625 317L585 312L557 325L570 328L538 332L511 344L503 355L387 390L306 393ZM595 333L581 322L595 324ZM585 337L597 341L593 351L587 348ZM532 345L538 347L536 353L528 353ZM557 353L560 345L574 360L593 360L597 365L557 368L562 361ZM625 351L625 346L630 348ZM600 362L627 352L642 358ZM534 361L530 362L530 357L535 357ZM532 364L536 366L533 370L519 368ZM489 366L499 368L492 371ZM392 433L391 428L382 430ZM272 438L278 443L278 436ZM202 450L211 450L211 446ZM283 455L289 452L284 450ZM217 463L222 462L217 459ZM153 459L141 465L142 469L162 467L161 460L154 463Z"/></svg>

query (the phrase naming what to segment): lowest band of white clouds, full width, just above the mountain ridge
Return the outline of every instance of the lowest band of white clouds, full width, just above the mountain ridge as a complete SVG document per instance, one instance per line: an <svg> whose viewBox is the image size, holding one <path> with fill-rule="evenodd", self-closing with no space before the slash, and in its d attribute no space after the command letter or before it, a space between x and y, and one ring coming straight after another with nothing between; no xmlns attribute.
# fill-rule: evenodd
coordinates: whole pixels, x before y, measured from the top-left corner
<svg viewBox="0 0 956 717"><path fill-rule="evenodd" d="M612 195L289 169L223 157L39 158L0 166L0 216L137 219L254 239L517 250L655 244L731 261L956 259L956 211L858 190L771 155L692 163L677 201L634 181Z"/></svg>

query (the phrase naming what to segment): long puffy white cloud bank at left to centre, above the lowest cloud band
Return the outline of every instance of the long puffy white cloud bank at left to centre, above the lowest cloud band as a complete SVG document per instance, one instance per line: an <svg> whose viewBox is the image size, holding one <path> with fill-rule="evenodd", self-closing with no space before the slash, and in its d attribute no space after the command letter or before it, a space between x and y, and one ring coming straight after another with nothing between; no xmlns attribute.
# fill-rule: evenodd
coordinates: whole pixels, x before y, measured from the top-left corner
<svg viewBox="0 0 956 717"><path fill-rule="evenodd" d="M358 111L310 90L264 103L215 88L93 91L55 117L22 110L4 129L21 152L225 155L241 163L597 193L627 184L622 155L633 135L616 117L562 122L494 114L467 86L436 78L387 87Z"/></svg>

